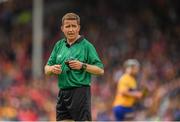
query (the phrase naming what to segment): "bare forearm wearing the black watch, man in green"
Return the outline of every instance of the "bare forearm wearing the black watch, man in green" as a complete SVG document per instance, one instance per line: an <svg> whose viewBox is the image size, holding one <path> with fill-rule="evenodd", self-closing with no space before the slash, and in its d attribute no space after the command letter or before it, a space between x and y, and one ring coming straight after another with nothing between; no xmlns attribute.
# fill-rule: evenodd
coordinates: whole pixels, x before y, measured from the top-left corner
<svg viewBox="0 0 180 122"><path fill-rule="evenodd" d="M104 69L99 68L98 66L95 65L90 65L90 64L86 64L86 71L94 74L94 75L103 75L104 74Z"/></svg>

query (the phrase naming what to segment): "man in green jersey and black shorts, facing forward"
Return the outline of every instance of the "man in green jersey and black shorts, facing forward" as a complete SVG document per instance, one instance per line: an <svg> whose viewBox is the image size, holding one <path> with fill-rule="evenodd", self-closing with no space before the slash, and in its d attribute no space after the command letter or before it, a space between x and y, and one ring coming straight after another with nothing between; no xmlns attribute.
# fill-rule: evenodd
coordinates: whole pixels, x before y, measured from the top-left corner
<svg viewBox="0 0 180 122"><path fill-rule="evenodd" d="M61 30L65 38L59 40L45 66L45 74L58 76L60 88L56 120L91 120L91 74L103 75L103 64L94 46L80 32L80 17L67 13Z"/></svg>

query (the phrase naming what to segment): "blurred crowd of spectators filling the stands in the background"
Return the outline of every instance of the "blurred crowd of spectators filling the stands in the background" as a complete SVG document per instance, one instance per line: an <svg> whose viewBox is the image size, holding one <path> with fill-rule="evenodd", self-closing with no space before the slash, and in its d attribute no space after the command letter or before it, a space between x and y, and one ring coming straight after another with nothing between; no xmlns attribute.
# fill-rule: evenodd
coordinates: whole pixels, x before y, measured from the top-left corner
<svg viewBox="0 0 180 122"><path fill-rule="evenodd" d="M129 120L180 120L180 10L178 0L44 0L43 64L63 37L61 17L81 17L105 75L92 78L93 120L114 120L112 101L126 59L141 63L146 96ZM55 120L56 77L32 79L32 1L0 3L0 120Z"/></svg>

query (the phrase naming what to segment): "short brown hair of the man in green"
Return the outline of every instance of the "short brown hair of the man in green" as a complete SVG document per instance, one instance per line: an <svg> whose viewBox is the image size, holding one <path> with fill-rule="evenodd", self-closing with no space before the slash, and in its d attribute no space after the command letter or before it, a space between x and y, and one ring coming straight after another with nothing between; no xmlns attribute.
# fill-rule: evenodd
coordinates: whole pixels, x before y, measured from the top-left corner
<svg viewBox="0 0 180 122"><path fill-rule="evenodd" d="M75 13L67 13L62 18L62 25L64 24L64 20L76 20L78 25L80 25L80 17Z"/></svg>

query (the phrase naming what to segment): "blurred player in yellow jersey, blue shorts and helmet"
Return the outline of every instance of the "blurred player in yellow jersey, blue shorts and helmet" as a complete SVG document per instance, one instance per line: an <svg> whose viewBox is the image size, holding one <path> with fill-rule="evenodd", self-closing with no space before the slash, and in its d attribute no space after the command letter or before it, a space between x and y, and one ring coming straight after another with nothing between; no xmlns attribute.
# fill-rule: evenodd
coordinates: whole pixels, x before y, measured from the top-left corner
<svg viewBox="0 0 180 122"><path fill-rule="evenodd" d="M125 73L121 76L114 100L113 112L117 121L122 121L127 113L133 112L136 99L142 97L142 92L137 90L135 79L139 72L140 64L136 59L129 59L124 63Z"/></svg>

